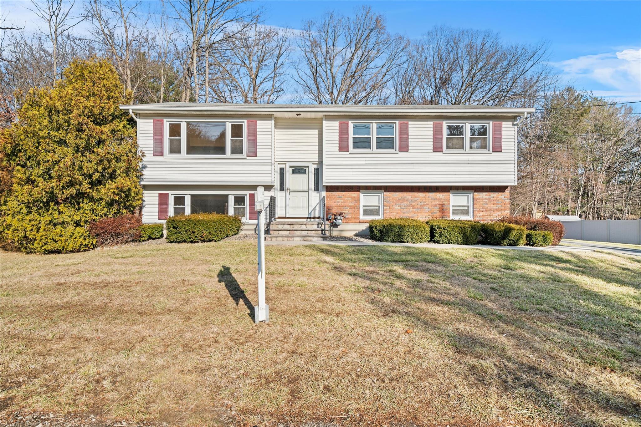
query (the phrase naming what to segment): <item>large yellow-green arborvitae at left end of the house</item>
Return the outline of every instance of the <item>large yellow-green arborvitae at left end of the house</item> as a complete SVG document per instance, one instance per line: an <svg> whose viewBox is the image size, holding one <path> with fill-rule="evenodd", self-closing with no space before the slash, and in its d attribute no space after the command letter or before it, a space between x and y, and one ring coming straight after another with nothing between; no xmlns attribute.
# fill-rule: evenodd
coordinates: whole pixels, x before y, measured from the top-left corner
<svg viewBox="0 0 641 427"><path fill-rule="evenodd" d="M18 120L0 131L10 170L0 195L0 241L24 252L87 250L89 222L142 202L136 131L104 60L74 61L54 88L33 89Z"/></svg>

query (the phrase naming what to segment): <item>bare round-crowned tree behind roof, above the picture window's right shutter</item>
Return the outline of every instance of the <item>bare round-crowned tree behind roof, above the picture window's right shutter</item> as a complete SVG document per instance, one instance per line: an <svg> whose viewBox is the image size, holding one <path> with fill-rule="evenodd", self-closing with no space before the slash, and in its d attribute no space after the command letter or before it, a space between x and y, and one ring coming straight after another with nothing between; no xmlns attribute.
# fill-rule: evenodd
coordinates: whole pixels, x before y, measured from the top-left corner
<svg viewBox="0 0 641 427"><path fill-rule="evenodd" d="M222 45L213 101L272 103L285 93L290 56L288 30L253 24Z"/></svg>

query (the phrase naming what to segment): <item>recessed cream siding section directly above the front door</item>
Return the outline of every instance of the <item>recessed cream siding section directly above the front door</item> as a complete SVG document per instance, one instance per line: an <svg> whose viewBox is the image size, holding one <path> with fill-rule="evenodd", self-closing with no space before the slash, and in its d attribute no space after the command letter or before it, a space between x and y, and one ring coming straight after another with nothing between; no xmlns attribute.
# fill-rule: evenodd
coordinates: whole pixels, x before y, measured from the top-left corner
<svg viewBox="0 0 641 427"><path fill-rule="evenodd" d="M277 162L310 162L322 158L322 120L320 118L276 118Z"/></svg>

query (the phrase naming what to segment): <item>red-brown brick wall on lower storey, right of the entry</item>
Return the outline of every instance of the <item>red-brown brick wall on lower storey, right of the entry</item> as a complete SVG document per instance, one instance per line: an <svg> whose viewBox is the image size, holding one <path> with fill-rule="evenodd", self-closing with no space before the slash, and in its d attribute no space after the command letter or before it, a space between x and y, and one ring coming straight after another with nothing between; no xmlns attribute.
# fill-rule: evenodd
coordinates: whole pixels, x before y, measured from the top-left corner
<svg viewBox="0 0 641 427"><path fill-rule="evenodd" d="M326 186L328 213L344 212L345 223L360 219L360 192L383 191L383 218L449 218L449 192L474 191L474 220L492 221L510 214L508 186Z"/></svg>

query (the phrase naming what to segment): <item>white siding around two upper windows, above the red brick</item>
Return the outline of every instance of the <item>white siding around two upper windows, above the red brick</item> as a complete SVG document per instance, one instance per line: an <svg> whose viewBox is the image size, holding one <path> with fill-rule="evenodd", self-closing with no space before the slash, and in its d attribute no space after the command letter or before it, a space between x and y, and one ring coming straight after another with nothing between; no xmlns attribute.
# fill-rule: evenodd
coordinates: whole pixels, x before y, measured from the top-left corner
<svg viewBox="0 0 641 427"><path fill-rule="evenodd" d="M348 119L325 119L324 185L516 184L516 127L512 120L503 120L502 152L472 150L455 154L432 151L432 124L447 122L446 118L408 119L408 152L339 152L338 122L345 120ZM372 119L372 122L376 120L385 121Z"/></svg>

